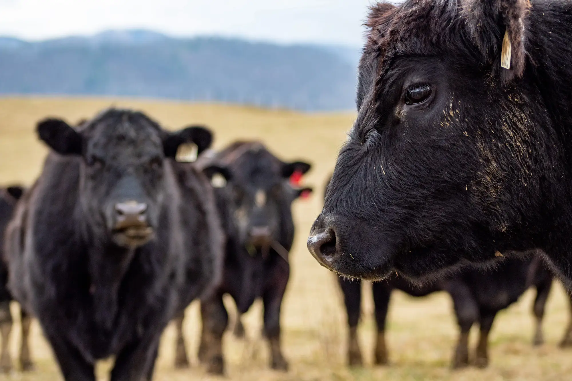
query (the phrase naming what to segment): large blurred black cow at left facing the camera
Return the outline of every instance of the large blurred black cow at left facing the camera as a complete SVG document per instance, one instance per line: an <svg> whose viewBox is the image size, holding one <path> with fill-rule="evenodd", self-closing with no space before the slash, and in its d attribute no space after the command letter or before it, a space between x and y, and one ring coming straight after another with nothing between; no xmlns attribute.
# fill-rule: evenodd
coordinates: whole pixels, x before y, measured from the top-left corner
<svg viewBox="0 0 572 381"><path fill-rule="evenodd" d="M50 148L6 231L9 288L38 318L66 381L150 380L161 333L221 275L224 235L204 174L174 161L209 130L168 132L108 109L80 128L37 125Z"/></svg>

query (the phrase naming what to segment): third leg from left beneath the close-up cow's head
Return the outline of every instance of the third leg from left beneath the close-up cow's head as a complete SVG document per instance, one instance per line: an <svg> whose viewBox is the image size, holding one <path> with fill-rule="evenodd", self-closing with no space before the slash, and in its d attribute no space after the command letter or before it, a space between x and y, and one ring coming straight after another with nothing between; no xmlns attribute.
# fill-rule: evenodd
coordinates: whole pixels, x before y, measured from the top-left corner
<svg viewBox="0 0 572 381"><path fill-rule="evenodd" d="M466 367L468 366L468 335L472 324L479 318L479 307L471 295L471 290L463 281L448 281L444 289L451 295L459 324L459 340L451 366L452 368Z"/></svg>

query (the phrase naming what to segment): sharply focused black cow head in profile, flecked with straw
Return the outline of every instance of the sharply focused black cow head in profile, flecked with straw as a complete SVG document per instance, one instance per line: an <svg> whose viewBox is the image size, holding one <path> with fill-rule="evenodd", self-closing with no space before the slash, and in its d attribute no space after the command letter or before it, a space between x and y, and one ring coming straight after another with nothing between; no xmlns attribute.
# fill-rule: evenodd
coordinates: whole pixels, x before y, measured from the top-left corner
<svg viewBox="0 0 572 381"><path fill-rule="evenodd" d="M372 9L358 118L308 239L321 264L353 277L397 270L419 279L534 247L534 233L518 232L535 231L559 146L540 90L525 81L527 4ZM500 66L505 30L510 70Z"/></svg>

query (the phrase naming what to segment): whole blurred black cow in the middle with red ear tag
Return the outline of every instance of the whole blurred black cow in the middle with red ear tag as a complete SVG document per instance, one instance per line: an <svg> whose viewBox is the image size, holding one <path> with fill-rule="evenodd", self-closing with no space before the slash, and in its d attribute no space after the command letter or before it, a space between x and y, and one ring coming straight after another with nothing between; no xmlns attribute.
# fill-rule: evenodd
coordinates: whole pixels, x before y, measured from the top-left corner
<svg viewBox="0 0 572 381"><path fill-rule="evenodd" d="M289 184L311 168L301 161L283 162L260 142L236 142L196 164L209 176L223 175L226 185L216 188L216 199L227 246L224 276L214 296L201 300L202 334L198 357L208 371L224 373L222 340L228 325L223 295L229 294L240 314L255 299L264 303L264 335L271 350L271 367L287 370L280 348L280 307L290 275L288 252L294 239L292 201L310 188ZM296 184L295 184L296 185ZM187 366L181 331L177 324L177 366Z"/></svg>

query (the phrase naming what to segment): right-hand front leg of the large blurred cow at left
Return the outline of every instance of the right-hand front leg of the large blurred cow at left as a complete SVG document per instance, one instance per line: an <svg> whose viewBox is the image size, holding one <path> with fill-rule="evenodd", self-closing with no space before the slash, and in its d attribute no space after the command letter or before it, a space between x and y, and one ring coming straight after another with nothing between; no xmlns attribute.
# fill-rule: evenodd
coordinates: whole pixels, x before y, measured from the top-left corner
<svg viewBox="0 0 572 381"><path fill-rule="evenodd" d="M110 381L142 381L153 376L162 330L134 339L115 359Z"/></svg>

